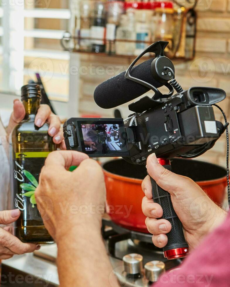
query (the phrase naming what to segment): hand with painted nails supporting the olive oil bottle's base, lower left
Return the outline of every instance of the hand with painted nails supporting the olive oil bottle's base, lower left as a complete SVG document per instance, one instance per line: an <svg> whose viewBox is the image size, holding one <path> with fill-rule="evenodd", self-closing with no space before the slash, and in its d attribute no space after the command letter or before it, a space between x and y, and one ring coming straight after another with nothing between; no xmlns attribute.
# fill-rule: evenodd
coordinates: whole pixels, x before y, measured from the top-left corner
<svg viewBox="0 0 230 287"><path fill-rule="evenodd" d="M19 209L0 211L0 224L11 224L19 216ZM9 259L15 254L24 254L40 249L39 245L22 243L17 237L11 234L10 230L9 226L0 228L0 259Z"/></svg>

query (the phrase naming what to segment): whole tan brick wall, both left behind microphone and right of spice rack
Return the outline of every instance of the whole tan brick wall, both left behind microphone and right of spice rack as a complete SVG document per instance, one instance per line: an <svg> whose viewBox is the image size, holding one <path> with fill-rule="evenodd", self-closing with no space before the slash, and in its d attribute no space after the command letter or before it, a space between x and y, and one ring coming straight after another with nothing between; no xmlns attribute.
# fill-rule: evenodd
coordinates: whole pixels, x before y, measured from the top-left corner
<svg viewBox="0 0 230 287"><path fill-rule="evenodd" d="M210 86L222 88L227 98L220 106L230 116L230 0L198 0L197 5L197 39L196 56L191 62L178 62L176 79L183 86ZM129 58L102 57L100 55L81 56L81 66L101 66L101 74L88 73L81 76L80 111L97 112L102 116L113 116L112 110L102 110L93 102L92 94L95 87L102 81L125 70L131 62ZM113 72L106 72L108 66ZM104 72L103 72L104 71ZM127 104L120 107L122 116L128 115ZM222 114L215 108L216 119L222 120ZM229 118L230 120L230 118ZM226 139L225 135L216 143L211 151L199 157L212 163L225 166Z"/></svg>

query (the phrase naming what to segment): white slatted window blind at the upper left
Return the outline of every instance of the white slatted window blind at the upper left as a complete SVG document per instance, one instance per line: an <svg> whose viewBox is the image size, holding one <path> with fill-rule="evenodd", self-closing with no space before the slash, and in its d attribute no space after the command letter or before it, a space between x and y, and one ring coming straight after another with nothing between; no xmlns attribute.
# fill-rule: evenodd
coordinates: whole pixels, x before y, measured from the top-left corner
<svg viewBox="0 0 230 287"><path fill-rule="evenodd" d="M0 18L2 89L19 91L30 79L36 80L39 72L48 96L67 101L69 53L62 50L60 39L69 30L68 1L25 0L21 5L5 1Z"/></svg>

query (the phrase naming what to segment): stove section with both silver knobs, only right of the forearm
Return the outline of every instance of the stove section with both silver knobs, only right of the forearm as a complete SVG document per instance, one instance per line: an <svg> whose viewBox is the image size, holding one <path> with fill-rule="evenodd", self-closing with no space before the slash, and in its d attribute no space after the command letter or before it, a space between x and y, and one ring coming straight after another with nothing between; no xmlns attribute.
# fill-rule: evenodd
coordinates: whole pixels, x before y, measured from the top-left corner
<svg viewBox="0 0 230 287"><path fill-rule="evenodd" d="M151 234L128 230L108 219L103 219L102 236L113 272L125 287L148 287L183 260L164 258L163 251L153 245Z"/></svg>

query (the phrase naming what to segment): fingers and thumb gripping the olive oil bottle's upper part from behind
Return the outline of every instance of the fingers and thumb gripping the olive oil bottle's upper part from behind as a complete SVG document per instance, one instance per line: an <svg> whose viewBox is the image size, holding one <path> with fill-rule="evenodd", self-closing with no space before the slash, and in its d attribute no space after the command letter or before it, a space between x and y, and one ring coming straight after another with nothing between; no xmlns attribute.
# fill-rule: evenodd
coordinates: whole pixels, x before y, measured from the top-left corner
<svg viewBox="0 0 230 287"><path fill-rule="evenodd" d="M13 112L9 121L9 125L6 129L7 133L10 134L13 128L20 123L25 117L25 108L19 100L13 102ZM45 122L50 124L49 135L53 137L53 141L56 144L60 144L62 149L65 149L65 145L62 144L63 133L60 130L61 121L58 116L54 115L48 105L40 105L37 115L35 117L35 124L37 127L42 127Z"/></svg>

